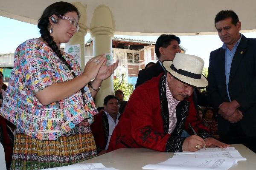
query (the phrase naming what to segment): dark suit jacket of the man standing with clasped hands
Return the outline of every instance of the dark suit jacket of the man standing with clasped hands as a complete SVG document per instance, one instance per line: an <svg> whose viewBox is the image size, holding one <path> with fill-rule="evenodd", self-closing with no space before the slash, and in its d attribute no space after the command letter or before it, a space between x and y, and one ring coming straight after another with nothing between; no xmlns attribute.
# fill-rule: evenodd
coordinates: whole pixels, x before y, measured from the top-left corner
<svg viewBox="0 0 256 170"><path fill-rule="evenodd" d="M208 68L207 92L212 106L218 110L222 102L229 102L225 78L225 49L212 51ZM240 124L247 136L256 136L256 39L242 35L230 69L230 99L239 102L243 119ZM230 123L218 116L218 129L227 134Z"/></svg>

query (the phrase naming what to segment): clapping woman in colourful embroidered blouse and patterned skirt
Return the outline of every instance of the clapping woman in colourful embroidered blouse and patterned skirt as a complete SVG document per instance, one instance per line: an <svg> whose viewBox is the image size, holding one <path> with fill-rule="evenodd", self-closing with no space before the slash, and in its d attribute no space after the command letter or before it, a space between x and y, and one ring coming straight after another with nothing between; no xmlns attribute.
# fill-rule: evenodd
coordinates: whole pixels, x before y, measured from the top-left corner
<svg viewBox="0 0 256 170"><path fill-rule="evenodd" d="M53 3L38 20L41 37L15 51L0 109L17 126L11 169L60 167L96 156L90 130L97 113L93 97L118 62L106 66L105 55L100 55L82 72L73 56L60 51L60 44L79 30L78 21L75 6Z"/></svg>

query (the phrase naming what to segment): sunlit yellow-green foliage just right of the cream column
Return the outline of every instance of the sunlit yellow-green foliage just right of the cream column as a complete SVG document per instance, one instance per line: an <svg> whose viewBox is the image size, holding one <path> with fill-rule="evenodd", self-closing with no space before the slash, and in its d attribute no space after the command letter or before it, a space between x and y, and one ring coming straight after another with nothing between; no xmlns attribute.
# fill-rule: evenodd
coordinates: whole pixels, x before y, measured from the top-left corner
<svg viewBox="0 0 256 170"><path fill-rule="evenodd" d="M133 92L133 85L128 84L126 78L124 77L122 84L118 87L121 81L122 81L122 76L121 77L116 76L116 79L114 79L113 81L114 90L121 89L124 92L124 100L128 101L129 97Z"/></svg>

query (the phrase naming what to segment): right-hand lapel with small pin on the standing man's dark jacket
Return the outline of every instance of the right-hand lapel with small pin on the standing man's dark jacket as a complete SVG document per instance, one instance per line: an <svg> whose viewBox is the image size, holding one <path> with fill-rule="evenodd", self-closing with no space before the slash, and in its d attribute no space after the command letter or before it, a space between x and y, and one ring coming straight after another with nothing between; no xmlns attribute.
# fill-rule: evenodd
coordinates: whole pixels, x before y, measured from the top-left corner
<svg viewBox="0 0 256 170"><path fill-rule="evenodd" d="M243 58L245 51L246 51L246 46L247 46L247 39L242 35L241 41L236 48L235 55L232 60L231 68L230 68L230 77L229 77L229 82L232 81L234 75L236 74L236 70L239 67L239 64L241 62L241 59Z"/></svg>

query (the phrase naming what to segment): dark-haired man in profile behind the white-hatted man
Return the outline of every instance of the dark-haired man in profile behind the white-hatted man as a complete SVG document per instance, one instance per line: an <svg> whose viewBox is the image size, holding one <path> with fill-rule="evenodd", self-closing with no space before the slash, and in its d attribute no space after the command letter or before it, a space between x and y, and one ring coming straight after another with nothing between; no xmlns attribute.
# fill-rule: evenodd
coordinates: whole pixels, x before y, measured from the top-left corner
<svg viewBox="0 0 256 170"><path fill-rule="evenodd" d="M159 74L164 72L162 65L163 60L173 60L176 53L180 53L180 38L171 34L162 34L158 37L155 44L155 53L157 55L158 61L155 65L145 68L139 71L137 83L141 85L143 82L157 77Z"/></svg>

